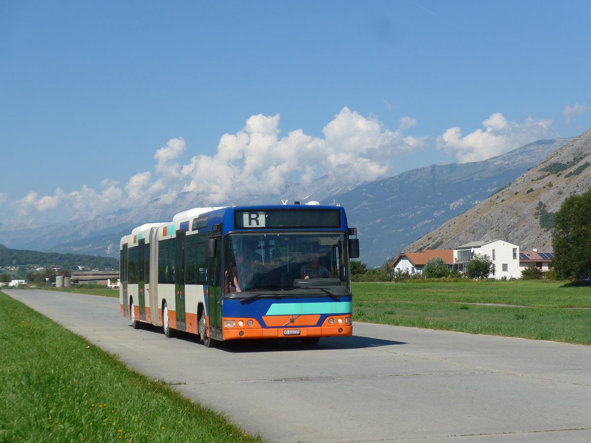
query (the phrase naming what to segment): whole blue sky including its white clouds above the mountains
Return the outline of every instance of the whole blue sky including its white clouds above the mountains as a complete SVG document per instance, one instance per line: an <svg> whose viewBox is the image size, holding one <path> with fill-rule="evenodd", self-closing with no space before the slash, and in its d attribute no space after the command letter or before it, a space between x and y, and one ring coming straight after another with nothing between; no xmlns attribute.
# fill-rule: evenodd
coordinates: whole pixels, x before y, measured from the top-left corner
<svg viewBox="0 0 591 443"><path fill-rule="evenodd" d="M279 201L285 180L352 186L579 135L591 127L590 12L4 0L0 222L84 219L180 191Z"/></svg>

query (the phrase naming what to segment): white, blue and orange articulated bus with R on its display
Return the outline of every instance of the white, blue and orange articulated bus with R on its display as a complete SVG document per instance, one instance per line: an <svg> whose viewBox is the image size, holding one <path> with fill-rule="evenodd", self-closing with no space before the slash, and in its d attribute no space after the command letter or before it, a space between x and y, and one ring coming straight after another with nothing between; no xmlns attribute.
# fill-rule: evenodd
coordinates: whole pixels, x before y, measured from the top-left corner
<svg viewBox="0 0 591 443"><path fill-rule="evenodd" d="M121 315L206 347L351 335L356 234L343 207L317 202L196 208L143 224L121 239Z"/></svg>

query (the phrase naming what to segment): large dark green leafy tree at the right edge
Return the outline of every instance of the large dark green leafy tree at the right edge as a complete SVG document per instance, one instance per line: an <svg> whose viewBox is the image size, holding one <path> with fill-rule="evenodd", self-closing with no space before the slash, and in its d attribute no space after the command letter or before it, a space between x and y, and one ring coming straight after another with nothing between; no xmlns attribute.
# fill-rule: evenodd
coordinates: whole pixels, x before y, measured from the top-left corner
<svg viewBox="0 0 591 443"><path fill-rule="evenodd" d="M591 276L591 190L563 201L554 219L554 259L560 279Z"/></svg>

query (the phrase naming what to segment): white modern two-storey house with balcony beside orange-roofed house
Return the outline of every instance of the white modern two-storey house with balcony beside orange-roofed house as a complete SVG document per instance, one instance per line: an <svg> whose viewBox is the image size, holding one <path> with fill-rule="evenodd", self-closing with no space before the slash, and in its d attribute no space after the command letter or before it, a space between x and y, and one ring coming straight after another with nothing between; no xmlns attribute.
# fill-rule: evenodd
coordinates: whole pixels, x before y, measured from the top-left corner
<svg viewBox="0 0 591 443"><path fill-rule="evenodd" d="M458 246L453 252L454 263L460 268L465 267L475 254L488 255L492 259L493 273L491 277L501 279L521 278L519 266L519 246L505 240L484 240Z"/></svg>

